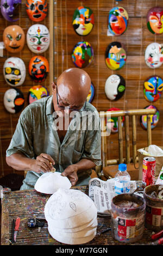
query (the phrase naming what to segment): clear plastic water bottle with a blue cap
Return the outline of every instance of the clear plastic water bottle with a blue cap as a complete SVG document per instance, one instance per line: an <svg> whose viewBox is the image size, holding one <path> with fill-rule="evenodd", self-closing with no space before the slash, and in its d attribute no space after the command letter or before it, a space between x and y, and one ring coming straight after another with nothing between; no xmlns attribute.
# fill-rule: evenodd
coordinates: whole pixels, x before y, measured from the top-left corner
<svg viewBox="0 0 163 256"><path fill-rule="evenodd" d="M123 194L130 192L130 175L127 172L127 165L121 163L118 166L118 172L115 175L115 193Z"/></svg>

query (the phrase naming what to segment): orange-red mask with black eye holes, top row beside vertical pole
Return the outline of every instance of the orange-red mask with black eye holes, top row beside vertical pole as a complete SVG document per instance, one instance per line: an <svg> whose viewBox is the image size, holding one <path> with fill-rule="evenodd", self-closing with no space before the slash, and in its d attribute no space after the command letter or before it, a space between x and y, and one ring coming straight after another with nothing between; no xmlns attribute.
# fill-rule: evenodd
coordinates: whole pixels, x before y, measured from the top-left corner
<svg viewBox="0 0 163 256"><path fill-rule="evenodd" d="M36 22L43 21L48 13L47 1L27 0L26 11L30 20Z"/></svg>

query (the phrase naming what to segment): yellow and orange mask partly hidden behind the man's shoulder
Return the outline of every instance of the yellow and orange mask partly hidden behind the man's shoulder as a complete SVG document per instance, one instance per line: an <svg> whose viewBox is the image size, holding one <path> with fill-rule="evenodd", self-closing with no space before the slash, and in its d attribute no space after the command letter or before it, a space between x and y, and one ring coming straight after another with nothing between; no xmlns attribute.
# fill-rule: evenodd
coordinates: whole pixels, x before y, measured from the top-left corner
<svg viewBox="0 0 163 256"><path fill-rule="evenodd" d="M48 91L45 87L43 86L33 86L32 88L29 89L29 94L28 94L28 102L29 104L36 101L40 100L42 97L48 96Z"/></svg>

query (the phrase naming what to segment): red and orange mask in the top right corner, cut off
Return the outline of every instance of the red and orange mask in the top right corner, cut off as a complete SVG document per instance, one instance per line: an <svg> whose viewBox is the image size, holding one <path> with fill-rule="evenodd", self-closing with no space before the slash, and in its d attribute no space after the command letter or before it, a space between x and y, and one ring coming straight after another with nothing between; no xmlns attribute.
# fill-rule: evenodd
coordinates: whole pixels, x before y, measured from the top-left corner
<svg viewBox="0 0 163 256"><path fill-rule="evenodd" d="M147 27L152 34L163 32L163 8L153 7L147 14Z"/></svg>

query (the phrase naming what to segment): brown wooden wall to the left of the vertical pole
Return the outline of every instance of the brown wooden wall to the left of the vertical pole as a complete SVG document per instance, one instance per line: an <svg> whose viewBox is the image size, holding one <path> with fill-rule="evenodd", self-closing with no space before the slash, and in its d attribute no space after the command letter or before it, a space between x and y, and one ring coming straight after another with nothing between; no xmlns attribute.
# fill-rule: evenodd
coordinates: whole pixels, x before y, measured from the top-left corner
<svg viewBox="0 0 163 256"><path fill-rule="evenodd" d="M34 25L36 22L33 22L29 19L27 13L26 13L26 0L22 0L22 4L19 5L16 17L19 18L18 21L15 22L8 22L4 19L4 17L1 15L0 11L0 41L3 41L3 31L5 27L11 26L11 25L18 25L22 27L25 35L27 34L28 28L32 25ZM49 17L46 16L45 20L42 22L43 25L47 26L49 29ZM5 162L5 151L7 150L10 140L12 138L12 135L15 131L15 127L17 124L17 120L20 116L20 112L17 114L10 114L6 111L3 105L3 96L6 90L12 88L10 87L4 80L3 77L3 64L5 60L9 57L19 57L21 58L25 65L26 65L26 80L24 81L22 86L17 87L22 91L25 98L24 108L28 105L27 96L28 96L28 90L30 87L38 84L33 82L30 79L30 76L28 74L28 64L30 59L35 56L36 54L31 52L27 46L27 42L23 48L23 50L20 53L9 53L7 50L4 49L3 57L0 57L0 176L7 175L9 173L19 173L23 174L23 172L17 172L16 170L10 168L7 163ZM49 50L47 50L45 53L40 54L42 56L45 56L49 60ZM49 75L47 76L45 82L40 83L42 86L45 86L50 92L49 89Z"/></svg>

